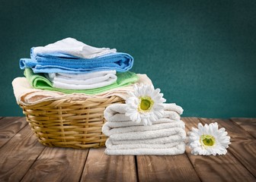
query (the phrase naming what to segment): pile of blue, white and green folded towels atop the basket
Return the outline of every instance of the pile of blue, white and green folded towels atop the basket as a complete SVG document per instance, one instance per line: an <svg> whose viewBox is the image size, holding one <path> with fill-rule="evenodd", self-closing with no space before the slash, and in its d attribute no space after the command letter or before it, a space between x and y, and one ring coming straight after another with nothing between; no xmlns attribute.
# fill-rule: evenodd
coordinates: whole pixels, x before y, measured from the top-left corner
<svg viewBox="0 0 256 182"><path fill-rule="evenodd" d="M30 58L21 58L20 67L30 86L62 93L95 95L139 80L129 71L131 55L72 38L32 48Z"/></svg>

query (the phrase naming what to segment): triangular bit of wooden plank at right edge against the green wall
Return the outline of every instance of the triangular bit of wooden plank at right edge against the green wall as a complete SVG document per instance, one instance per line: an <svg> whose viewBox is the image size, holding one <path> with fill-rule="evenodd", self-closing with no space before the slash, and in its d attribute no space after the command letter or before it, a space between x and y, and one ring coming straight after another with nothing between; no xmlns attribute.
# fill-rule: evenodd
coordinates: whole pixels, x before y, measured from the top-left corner
<svg viewBox="0 0 256 182"><path fill-rule="evenodd" d="M256 138L256 118L231 118L231 120Z"/></svg>

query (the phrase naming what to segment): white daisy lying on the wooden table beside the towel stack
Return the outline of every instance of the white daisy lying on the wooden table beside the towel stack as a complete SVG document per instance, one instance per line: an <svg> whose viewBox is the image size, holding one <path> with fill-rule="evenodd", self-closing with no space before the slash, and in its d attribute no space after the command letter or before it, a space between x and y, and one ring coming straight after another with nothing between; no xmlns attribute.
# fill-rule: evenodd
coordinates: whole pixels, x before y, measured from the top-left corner
<svg viewBox="0 0 256 182"><path fill-rule="evenodd" d="M188 133L188 145L194 155L225 155L230 144L225 128L218 130L218 124L198 124Z"/></svg>

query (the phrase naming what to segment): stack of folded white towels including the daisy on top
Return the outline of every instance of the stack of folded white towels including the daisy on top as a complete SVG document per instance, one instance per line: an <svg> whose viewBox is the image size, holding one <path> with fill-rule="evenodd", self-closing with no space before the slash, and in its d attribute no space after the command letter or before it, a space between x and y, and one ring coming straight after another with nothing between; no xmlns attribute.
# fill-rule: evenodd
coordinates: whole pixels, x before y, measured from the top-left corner
<svg viewBox="0 0 256 182"><path fill-rule="evenodd" d="M183 109L164 104L159 89L135 86L126 104L109 105L102 132L108 155L178 155L185 151Z"/></svg>

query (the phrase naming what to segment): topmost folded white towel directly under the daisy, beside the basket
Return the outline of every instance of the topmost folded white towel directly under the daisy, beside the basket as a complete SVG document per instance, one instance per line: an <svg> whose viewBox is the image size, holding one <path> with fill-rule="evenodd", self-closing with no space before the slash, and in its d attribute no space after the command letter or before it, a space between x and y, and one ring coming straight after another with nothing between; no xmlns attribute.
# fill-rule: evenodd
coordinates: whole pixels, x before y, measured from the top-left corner
<svg viewBox="0 0 256 182"><path fill-rule="evenodd" d="M164 103L165 115L164 118L172 120L179 120L180 115L183 113L183 108L174 103ZM130 118L125 115L126 104L113 104L109 105L104 111L104 118L108 122L130 121Z"/></svg>

